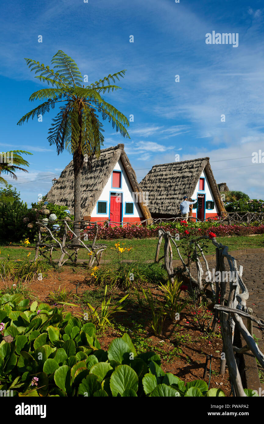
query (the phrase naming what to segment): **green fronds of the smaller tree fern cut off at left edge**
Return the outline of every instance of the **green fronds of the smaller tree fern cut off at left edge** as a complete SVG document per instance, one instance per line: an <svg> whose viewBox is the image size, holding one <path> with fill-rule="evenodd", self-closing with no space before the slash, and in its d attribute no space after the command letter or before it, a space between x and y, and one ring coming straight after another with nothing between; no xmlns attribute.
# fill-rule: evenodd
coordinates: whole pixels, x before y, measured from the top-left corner
<svg viewBox="0 0 264 424"><path fill-rule="evenodd" d="M10 160L11 153L12 153L13 157ZM0 153L0 157L1 157L1 160L0 160L0 184L5 184L6 186L8 185L8 182L3 177L1 177L2 173L8 174L12 178L14 178L14 180L17 180L17 176L15 174L15 171L19 170L19 171L23 171L23 172L28 172L28 170L26 170L25 168L21 168L21 166L20 166L20 165L29 166L28 161L26 161L21 156L21 154L32 155L32 153L26 152L25 150L12 150L12 151L7 152L7 153L6 152Z"/></svg>

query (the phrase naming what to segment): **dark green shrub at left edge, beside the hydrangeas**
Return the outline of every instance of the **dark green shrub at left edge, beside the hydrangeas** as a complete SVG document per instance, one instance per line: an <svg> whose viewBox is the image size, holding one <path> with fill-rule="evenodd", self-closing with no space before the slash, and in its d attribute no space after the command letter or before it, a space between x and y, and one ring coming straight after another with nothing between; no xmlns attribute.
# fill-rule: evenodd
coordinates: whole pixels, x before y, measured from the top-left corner
<svg viewBox="0 0 264 424"><path fill-rule="evenodd" d="M20 200L16 189L9 184L0 190L0 239L5 242L19 242L26 233L23 217L28 210Z"/></svg>

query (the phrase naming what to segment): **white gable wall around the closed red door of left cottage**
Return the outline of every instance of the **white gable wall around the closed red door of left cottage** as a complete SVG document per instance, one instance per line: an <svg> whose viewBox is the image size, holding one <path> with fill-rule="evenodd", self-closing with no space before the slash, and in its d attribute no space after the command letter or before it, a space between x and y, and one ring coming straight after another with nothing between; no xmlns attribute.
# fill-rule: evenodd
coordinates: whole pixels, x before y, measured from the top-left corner
<svg viewBox="0 0 264 424"><path fill-rule="evenodd" d="M94 209L91 214L91 218L98 218L98 220L106 219L109 217L109 208L110 208L110 193L122 193L122 217L123 220L126 220L126 218L142 218L142 212L140 210L139 204L133 202L132 198L132 187L129 182L127 173L125 171L125 168L122 164L121 159L117 162L117 164L114 166L115 171L122 171L122 177L121 177L121 188L111 188L112 184L112 174L110 178L108 179L98 201L106 201L107 202L107 213L106 215L97 214L97 204L94 206ZM134 212L133 214L125 215L125 202L134 203Z"/></svg>

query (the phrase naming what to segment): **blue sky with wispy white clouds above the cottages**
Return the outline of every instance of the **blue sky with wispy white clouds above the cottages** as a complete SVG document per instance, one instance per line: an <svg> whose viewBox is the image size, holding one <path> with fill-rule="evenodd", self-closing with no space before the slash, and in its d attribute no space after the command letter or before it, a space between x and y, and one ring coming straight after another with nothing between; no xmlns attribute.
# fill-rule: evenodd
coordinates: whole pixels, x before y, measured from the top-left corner
<svg viewBox="0 0 264 424"><path fill-rule="evenodd" d="M104 121L105 147L125 143L138 181L152 165L210 157L218 183L264 198L263 2L255 0L45 0L3 3L0 16L0 151L28 150L29 173L5 177L30 206L70 162L47 142L51 110L23 126L34 79L24 57L49 64L63 50L89 83L126 69L122 90L105 95L127 117L122 139ZM238 33L239 45L207 45L206 33ZM42 35L43 42L38 42ZM133 35L134 42L129 42ZM175 75L180 81L175 82ZM225 122L221 115L225 114ZM264 161L264 159L263 159Z"/></svg>

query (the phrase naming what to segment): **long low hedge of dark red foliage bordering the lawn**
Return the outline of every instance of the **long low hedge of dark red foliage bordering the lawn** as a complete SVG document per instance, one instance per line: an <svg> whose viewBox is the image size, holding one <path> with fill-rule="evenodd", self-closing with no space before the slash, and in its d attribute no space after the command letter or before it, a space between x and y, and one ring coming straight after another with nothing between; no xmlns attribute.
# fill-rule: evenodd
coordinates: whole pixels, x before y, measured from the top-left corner
<svg viewBox="0 0 264 424"><path fill-rule="evenodd" d="M158 237L158 229L163 228L164 231L170 231L175 236L180 234L186 237L186 226L182 226L182 229L172 228L171 226L159 226L156 228L147 228L144 226L129 226L129 227L109 227L103 228L98 226L97 240L115 240L115 239L133 239L133 238L150 238ZM264 234L264 225L260 226L241 226L241 225L219 225L212 226L206 229L188 229L189 237L192 235L206 235L209 233L216 234L217 237L223 236L246 236L249 234ZM92 240L91 236L91 240Z"/></svg>

